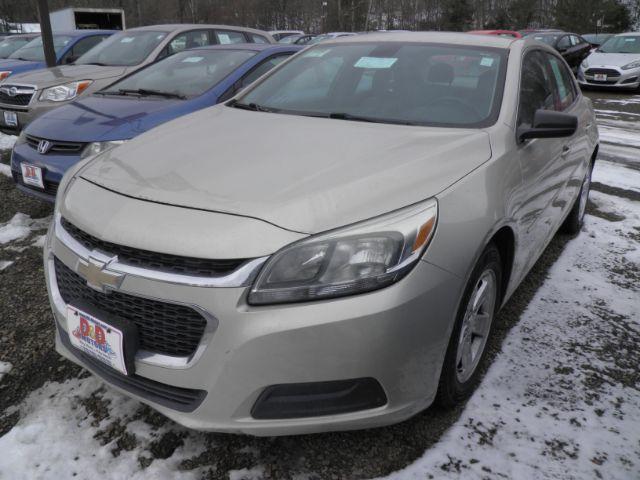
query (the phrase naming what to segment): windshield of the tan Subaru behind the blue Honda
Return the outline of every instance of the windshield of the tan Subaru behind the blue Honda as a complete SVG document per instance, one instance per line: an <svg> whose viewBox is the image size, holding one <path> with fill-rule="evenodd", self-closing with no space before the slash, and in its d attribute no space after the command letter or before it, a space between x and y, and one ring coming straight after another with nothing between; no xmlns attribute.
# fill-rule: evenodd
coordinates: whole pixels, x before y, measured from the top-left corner
<svg viewBox="0 0 640 480"><path fill-rule="evenodd" d="M112 35L82 55L76 65L129 66L142 63L167 36L166 32L128 31Z"/></svg>

